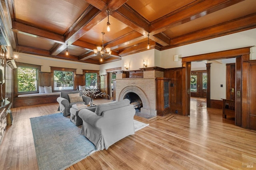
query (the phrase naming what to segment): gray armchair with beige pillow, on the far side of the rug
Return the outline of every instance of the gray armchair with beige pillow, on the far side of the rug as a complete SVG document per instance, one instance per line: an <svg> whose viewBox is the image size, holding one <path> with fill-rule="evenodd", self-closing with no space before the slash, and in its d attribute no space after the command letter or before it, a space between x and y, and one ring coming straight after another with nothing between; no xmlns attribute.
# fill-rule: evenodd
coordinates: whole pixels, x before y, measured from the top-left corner
<svg viewBox="0 0 256 170"><path fill-rule="evenodd" d="M70 98L68 94L76 94L80 93L80 96L82 96L83 102L74 102L70 103ZM83 104L89 104L90 98L87 96L83 96L82 90L78 91L72 91L72 92L60 92L60 97L57 98L57 102L60 104L58 111L61 111L63 115L66 117L70 115L70 108L73 104L83 103Z"/></svg>

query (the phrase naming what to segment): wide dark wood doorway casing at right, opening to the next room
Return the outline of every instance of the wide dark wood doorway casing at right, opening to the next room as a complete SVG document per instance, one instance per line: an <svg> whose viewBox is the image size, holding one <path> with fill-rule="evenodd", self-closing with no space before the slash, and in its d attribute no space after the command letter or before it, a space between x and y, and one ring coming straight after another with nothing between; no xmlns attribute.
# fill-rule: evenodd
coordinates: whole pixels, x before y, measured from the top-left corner
<svg viewBox="0 0 256 170"><path fill-rule="evenodd" d="M213 53L206 53L200 55L193 55L189 57L182 57L182 72L184 73L182 76L183 84L182 84L182 115L190 115L190 75L191 75L191 62L198 61L213 61L219 59L236 59L236 86L234 91L235 95L235 124L237 126L248 128L250 121L248 121L249 112L248 107L250 103L248 100L248 89L246 88L248 80L248 63L250 61L250 48L251 47L243 47L238 49L230 49L226 51L218 51ZM206 70L210 70L210 63L206 64ZM207 74L207 107L208 103L211 106L211 94L208 93L210 89L210 77ZM242 81L243 79L243 81ZM243 105L242 105L243 103Z"/></svg>

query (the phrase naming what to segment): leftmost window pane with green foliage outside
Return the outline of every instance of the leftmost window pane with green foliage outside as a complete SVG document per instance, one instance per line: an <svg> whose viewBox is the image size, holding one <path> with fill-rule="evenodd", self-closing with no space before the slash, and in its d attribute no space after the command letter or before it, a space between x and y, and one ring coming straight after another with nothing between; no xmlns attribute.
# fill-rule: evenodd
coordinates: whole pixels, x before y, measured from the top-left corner
<svg viewBox="0 0 256 170"><path fill-rule="evenodd" d="M37 90L38 69L18 67L18 92L34 92Z"/></svg>

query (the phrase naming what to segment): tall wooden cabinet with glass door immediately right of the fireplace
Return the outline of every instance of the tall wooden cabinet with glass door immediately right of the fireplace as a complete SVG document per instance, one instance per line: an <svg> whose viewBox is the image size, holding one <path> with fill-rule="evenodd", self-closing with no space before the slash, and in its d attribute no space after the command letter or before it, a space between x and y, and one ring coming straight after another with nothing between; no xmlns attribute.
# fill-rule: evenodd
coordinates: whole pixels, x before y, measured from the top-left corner
<svg viewBox="0 0 256 170"><path fill-rule="evenodd" d="M169 78L156 78L156 114L159 116L170 113L169 88Z"/></svg>

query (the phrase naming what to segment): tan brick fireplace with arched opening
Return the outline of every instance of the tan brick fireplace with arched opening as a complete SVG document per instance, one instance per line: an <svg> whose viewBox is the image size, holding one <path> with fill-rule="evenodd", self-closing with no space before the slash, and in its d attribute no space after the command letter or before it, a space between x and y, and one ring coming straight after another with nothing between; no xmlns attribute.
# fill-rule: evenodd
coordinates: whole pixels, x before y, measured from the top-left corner
<svg viewBox="0 0 256 170"><path fill-rule="evenodd" d="M129 72L116 73L116 100L123 100L126 94L133 92L141 101L141 113L156 115L156 78L163 77L164 72L154 68L143 68L143 77L127 78ZM140 70L141 72L141 70Z"/></svg>

